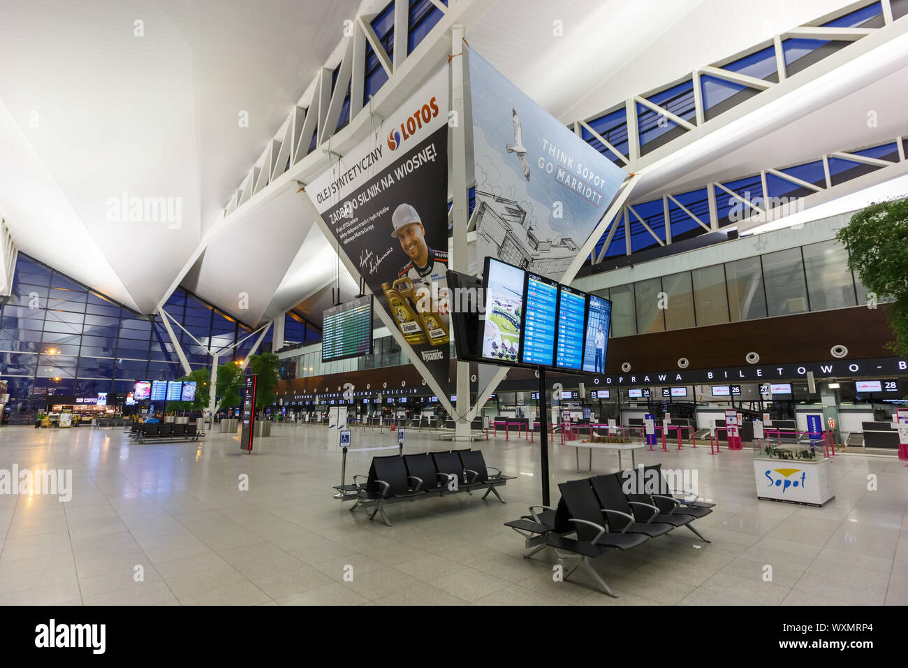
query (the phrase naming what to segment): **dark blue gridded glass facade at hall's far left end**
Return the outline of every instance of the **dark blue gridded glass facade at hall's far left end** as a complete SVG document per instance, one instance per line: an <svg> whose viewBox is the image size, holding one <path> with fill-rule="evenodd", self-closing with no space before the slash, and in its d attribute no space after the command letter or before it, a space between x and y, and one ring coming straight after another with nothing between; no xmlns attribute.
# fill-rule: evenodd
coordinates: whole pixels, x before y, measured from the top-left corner
<svg viewBox="0 0 908 668"><path fill-rule="evenodd" d="M211 364L208 346L231 345L250 331L209 304L176 290L164 305L202 346L174 327L193 368ZM243 356L258 336L242 344ZM260 350L271 348L271 331ZM236 354L222 358L235 359ZM13 289L0 310L0 380L11 421L30 422L48 394L125 393L137 380L173 380L183 367L163 324L135 314L64 274L18 254Z"/></svg>

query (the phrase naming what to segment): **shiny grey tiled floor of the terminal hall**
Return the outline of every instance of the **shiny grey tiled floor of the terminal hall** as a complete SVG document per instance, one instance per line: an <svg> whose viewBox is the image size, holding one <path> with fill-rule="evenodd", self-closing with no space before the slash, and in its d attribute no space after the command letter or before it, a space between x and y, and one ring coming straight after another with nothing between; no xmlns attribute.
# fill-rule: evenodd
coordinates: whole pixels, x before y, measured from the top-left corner
<svg viewBox="0 0 908 668"><path fill-rule="evenodd" d="M638 463L696 469L701 495L718 503L697 521L713 542L677 530L607 554L597 567L612 599L582 576L554 582L552 555L522 559L502 526L540 502L538 444L474 444L518 476L502 489L507 504L466 494L400 503L386 527L331 498L341 456L324 428L272 434L242 455L222 434L136 445L121 429L0 429L0 468L74 478L68 503L0 495L0 604L908 604L908 468L895 459L835 459L836 499L820 509L756 501L747 451L644 452ZM388 432L354 439L393 444ZM410 432L405 452L449 447ZM350 454L348 480L369 460ZM594 471L616 467L614 454L594 455ZM582 476L566 447L553 448L551 471L556 482Z"/></svg>

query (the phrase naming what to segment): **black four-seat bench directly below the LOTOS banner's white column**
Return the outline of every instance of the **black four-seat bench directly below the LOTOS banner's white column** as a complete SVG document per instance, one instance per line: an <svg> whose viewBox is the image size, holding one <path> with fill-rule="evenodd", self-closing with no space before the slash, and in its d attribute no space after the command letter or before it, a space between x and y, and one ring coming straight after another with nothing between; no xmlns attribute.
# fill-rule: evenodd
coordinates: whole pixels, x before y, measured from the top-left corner
<svg viewBox="0 0 908 668"><path fill-rule="evenodd" d="M477 490L486 490L485 499L495 494L498 501L506 503L498 494L496 487L514 480L513 475L504 475L494 466L487 466L479 450L451 450L441 453L394 454L386 457L372 457L369 475L354 475L354 484L341 484L334 487L344 496L355 499L350 508L364 507L370 520L376 514L390 526L385 513L389 503L416 501L432 496L445 496L465 492L473 494ZM360 482L361 481L361 482Z"/></svg>

